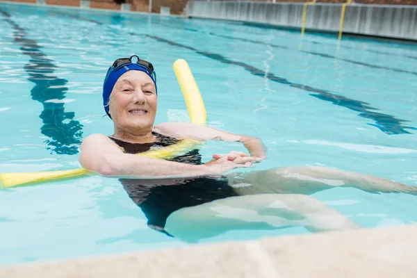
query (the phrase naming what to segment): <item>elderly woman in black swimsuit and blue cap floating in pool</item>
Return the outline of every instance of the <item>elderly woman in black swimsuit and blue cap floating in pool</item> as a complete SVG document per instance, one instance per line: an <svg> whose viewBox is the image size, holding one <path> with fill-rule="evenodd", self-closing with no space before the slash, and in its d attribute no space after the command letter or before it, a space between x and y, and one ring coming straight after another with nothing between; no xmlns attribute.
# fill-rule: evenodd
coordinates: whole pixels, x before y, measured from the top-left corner
<svg viewBox="0 0 417 278"><path fill-rule="evenodd" d="M81 165L120 178L129 197L145 213L149 227L184 240L259 227L353 229L358 225L308 195L335 186L370 193L416 191L386 179L325 167L281 167L240 176L229 173L266 158L261 140L188 123L154 125L156 74L152 64L138 56L113 63L104 80L103 99L114 133L85 138ZM208 163L202 163L198 149L170 160L134 155L183 138L241 142L249 154L213 154Z"/></svg>

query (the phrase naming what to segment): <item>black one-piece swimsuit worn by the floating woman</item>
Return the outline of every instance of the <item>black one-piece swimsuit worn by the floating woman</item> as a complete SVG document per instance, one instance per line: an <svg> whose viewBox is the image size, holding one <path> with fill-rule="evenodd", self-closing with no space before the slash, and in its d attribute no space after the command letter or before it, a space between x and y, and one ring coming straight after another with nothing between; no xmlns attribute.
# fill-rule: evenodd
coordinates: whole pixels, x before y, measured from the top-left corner
<svg viewBox="0 0 417 278"><path fill-rule="evenodd" d="M124 149L126 154L138 154L149 149L166 147L179 140L152 132L157 142L145 144L133 144L111 138L117 145ZM202 157L198 149L194 149L183 156L169 159L181 163L199 165L202 164ZM237 196L226 179L213 179L208 177L187 179L185 183L177 183L172 186L161 186L153 184L140 184L138 179L120 179L126 193L142 209L148 220L148 225L164 231L167 217L180 208L197 206L216 199Z"/></svg>

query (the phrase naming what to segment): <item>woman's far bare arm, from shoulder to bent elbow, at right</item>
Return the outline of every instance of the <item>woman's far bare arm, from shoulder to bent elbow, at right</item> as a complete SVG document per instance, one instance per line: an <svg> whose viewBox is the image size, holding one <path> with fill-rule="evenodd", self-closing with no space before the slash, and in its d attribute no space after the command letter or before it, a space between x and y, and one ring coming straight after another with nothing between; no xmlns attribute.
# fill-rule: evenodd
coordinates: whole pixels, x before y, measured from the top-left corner
<svg viewBox="0 0 417 278"><path fill-rule="evenodd" d="M243 136L208 126L189 124L186 122L165 122L154 127L154 131L175 138L194 138L198 140L220 140L241 142L252 157L265 159L266 148L261 139Z"/></svg>

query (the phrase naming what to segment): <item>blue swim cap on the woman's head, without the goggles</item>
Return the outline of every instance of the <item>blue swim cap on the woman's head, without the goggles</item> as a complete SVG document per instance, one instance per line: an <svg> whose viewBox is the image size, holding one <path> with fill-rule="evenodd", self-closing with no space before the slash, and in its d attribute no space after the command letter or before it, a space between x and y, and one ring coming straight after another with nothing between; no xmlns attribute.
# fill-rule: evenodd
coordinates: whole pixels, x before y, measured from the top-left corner
<svg viewBox="0 0 417 278"><path fill-rule="evenodd" d="M155 89L156 89L156 80L153 76L152 72L149 72L149 68L142 66L138 63L131 63L129 65L123 65L117 70L113 70L113 67L110 67L108 69L106 79L104 79L104 85L103 85L103 105L104 105L104 111L106 111L108 117L111 118L110 113L108 112L108 101L110 101L110 95L111 91L113 90L113 87L115 86L115 83L117 79L122 76L125 72L128 72L129 70L139 70L140 72L145 72L151 79L154 81ZM158 90L156 89L156 93L158 93Z"/></svg>

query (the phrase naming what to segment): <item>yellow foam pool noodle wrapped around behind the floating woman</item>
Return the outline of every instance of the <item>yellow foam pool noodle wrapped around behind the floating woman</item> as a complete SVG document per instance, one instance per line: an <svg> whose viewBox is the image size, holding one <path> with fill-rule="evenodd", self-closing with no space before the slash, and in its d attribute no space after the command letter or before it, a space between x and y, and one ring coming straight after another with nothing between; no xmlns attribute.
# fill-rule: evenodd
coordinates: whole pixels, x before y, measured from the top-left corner
<svg viewBox="0 0 417 278"><path fill-rule="evenodd" d="M195 82L193 73L188 66L186 60L176 60L174 72L177 76L179 87L183 93L184 101L186 101L188 115L193 124L206 124L207 114L204 107L202 95L199 92L197 83ZM174 158L189 152L197 147L201 141L193 139L184 139L174 145L142 152L138 156L147 156L153 158ZM74 177L83 177L95 174L83 168L71 170L55 170L44 172L17 172L0 174L0 188L11 188L15 186L24 186L34 183L42 183L47 181L59 181Z"/></svg>

